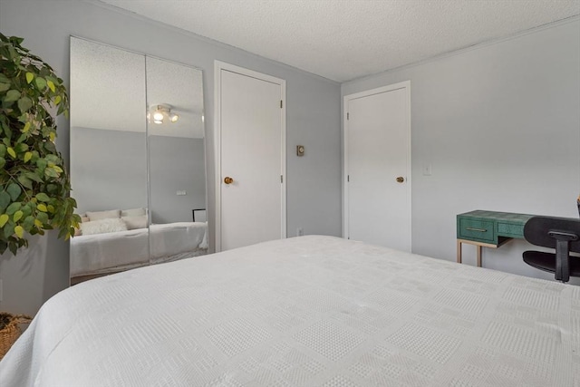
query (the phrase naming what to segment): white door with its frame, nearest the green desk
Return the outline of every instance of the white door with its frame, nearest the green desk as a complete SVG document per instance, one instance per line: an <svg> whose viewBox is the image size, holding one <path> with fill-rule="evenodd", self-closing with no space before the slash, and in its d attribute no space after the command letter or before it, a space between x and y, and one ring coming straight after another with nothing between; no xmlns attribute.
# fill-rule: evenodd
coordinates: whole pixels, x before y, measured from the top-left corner
<svg viewBox="0 0 580 387"><path fill-rule="evenodd" d="M410 88L344 97L343 237L411 251Z"/></svg>

